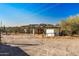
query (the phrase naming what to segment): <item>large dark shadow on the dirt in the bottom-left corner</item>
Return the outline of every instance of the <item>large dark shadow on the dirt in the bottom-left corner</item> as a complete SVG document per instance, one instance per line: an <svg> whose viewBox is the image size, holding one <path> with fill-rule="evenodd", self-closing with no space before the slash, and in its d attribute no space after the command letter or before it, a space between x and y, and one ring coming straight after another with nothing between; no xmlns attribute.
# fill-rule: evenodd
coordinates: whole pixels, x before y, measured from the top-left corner
<svg viewBox="0 0 79 59"><path fill-rule="evenodd" d="M0 56L30 56L19 47L0 44Z"/></svg>

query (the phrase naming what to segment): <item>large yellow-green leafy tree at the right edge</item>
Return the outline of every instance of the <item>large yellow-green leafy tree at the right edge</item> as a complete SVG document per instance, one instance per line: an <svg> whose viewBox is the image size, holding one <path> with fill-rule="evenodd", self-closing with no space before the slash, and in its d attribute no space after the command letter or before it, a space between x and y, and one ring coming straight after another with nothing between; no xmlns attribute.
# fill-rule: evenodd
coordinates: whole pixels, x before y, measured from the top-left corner
<svg viewBox="0 0 79 59"><path fill-rule="evenodd" d="M79 34L79 16L69 17L59 24L61 30L67 35Z"/></svg>

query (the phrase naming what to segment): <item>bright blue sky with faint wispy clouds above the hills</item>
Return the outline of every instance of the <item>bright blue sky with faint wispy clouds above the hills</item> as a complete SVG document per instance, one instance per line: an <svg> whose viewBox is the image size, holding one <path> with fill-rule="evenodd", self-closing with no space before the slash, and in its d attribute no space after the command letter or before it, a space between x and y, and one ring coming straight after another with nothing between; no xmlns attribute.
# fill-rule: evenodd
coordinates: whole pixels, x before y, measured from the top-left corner
<svg viewBox="0 0 79 59"><path fill-rule="evenodd" d="M62 19L79 14L77 3L2 3L0 21L3 25L56 24Z"/></svg>

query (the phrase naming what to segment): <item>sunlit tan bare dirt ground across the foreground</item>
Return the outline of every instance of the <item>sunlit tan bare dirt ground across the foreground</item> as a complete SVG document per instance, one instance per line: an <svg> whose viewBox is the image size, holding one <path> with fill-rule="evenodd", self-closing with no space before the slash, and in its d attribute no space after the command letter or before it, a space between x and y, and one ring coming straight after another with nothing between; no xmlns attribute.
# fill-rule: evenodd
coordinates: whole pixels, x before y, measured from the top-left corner
<svg viewBox="0 0 79 59"><path fill-rule="evenodd" d="M27 34L2 35L1 42L19 47L30 56L79 56L78 36L37 38Z"/></svg>

